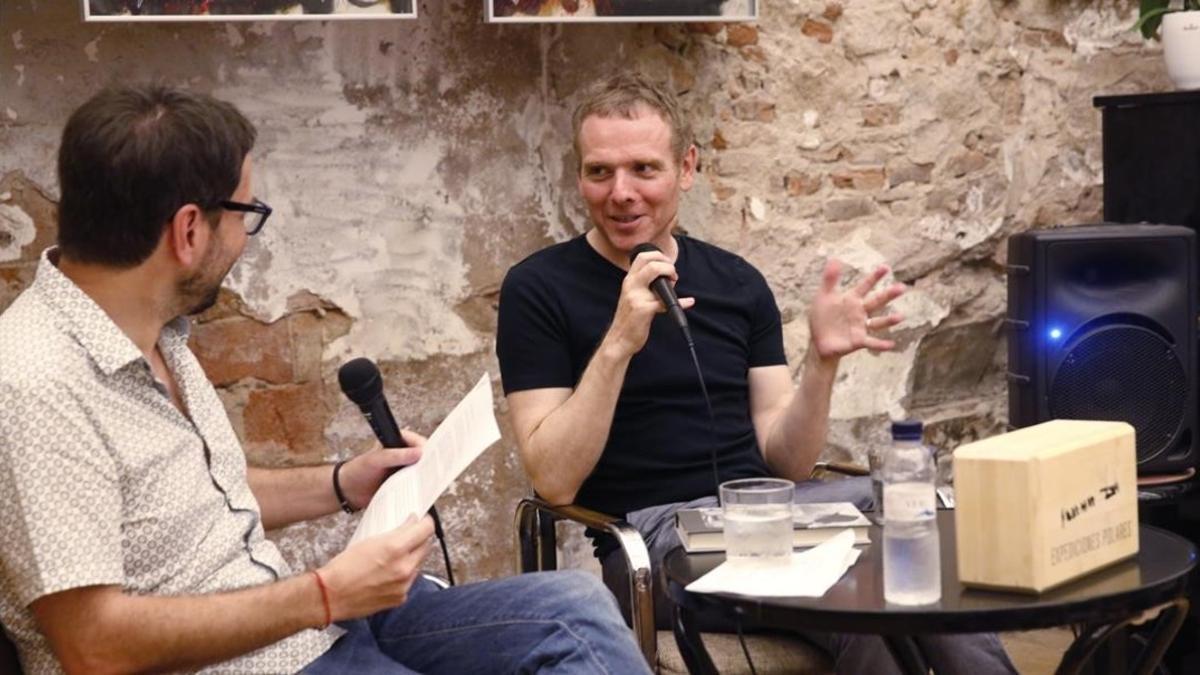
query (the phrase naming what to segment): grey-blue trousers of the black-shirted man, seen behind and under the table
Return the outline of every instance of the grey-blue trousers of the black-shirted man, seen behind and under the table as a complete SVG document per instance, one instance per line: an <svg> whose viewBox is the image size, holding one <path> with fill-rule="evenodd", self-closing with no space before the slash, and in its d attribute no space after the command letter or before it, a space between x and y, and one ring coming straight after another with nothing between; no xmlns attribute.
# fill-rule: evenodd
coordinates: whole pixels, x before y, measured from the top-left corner
<svg viewBox="0 0 1200 675"><path fill-rule="evenodd" d="M859 509L872 507L870 478L842 480L805 480L796 484L797 502L851 502ZM649 507L625 514L625 520L642 533L649 549L650 563L658 568L667 552L679 545L674 528L674 512L680 508L716 506L716 497L701 497L691 502ZM629 583L624 579L625 563L620 551L601 560L605 581L619 596L628 596ZM622 592L624 591L624 592ZM628 603L625 597L622 603ZM654 574L654 619L660 628L670 627L671 601ZM704 632L732 633L733 622L722 616L700 615L697 627ZM755 629L755 626L745 626ZM899 675L892 652L878 635L853 633L802 632L800 637L822 647L833 657L839 674ZM1004 653L1004 646L991 633L919 635L917 644L929 664L938 675L1014 675L1016 668Z"/></svg>

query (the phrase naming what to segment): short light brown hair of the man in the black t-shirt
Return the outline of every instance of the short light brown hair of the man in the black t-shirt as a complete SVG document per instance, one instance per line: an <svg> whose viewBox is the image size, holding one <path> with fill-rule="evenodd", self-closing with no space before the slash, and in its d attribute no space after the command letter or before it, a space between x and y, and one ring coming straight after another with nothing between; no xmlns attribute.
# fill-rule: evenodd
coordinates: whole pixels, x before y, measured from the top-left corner
<svg viewBox="0 0 1200 675"><path fill-rule="evenodd" d="M658 113L671 129L671 151L676 162L683 161L684 154L691 147L691 125L683 114L679 100L665 86L637 73L619 73L602 79L587 89L583 100L575 108L571 126L575 132L575 155L580 159L580 130L583 120L590 117L636 118L643 108Z"/></svg>

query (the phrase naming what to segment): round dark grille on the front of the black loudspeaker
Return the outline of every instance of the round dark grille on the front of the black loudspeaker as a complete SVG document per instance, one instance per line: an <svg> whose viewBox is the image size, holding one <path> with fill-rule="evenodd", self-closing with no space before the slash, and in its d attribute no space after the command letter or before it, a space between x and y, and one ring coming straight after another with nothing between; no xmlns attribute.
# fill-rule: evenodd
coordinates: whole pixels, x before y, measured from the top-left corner
<svg viewBox="0 0 1200 675"><path fill-rule="evenodd" d="M1138 461L1174 444L1183 422L1187 376L1160 335L1136 325L1108 325L1072 345L1050 388L1051 419L1128 422Z"/></svg>

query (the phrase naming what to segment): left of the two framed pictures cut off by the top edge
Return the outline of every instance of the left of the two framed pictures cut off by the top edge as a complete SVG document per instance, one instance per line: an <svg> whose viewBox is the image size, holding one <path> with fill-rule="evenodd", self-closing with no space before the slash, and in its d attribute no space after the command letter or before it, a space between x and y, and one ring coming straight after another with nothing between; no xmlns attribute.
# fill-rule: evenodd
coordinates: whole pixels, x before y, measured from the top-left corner
<svg viewBox="0 0 1200 675"><path fill-rule="evenodd" d="M82 0L86 22L415 19L416 0Z"/></svg>

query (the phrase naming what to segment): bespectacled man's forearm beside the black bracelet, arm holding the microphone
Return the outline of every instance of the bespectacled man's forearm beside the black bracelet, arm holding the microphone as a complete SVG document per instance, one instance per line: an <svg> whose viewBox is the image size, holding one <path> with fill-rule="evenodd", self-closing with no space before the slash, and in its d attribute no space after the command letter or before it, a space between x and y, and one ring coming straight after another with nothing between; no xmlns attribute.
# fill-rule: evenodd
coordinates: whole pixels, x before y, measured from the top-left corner
<svg viewBox="0 0 1200 675"><path fill-rule="evenodd" d="M265 530L320 518L338 508L334 495L334 467L328 464L288 468L250 467L246 480L258 500Z"/></svg>

